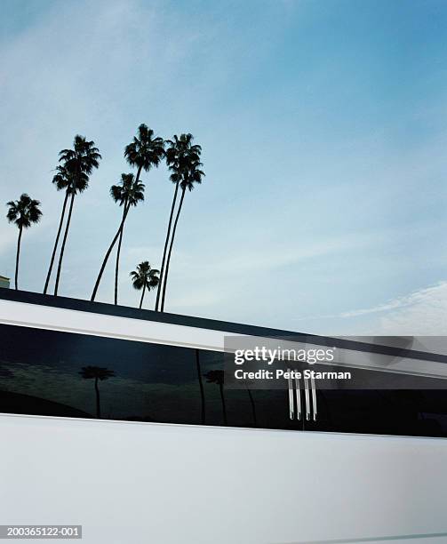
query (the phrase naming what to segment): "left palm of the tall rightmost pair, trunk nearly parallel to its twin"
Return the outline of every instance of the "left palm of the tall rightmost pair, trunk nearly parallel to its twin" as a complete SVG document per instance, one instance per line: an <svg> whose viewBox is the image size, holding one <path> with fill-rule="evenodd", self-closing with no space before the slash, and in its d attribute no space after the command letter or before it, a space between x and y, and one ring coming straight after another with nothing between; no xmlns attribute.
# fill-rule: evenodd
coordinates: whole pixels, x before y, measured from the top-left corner
<svg viewBox="0 0 447 544"><path fill-rule="evenodd" d="M171 213L169 215L168 230L164 239L162 268L160 272L161 281L158 284L158 289L156 292L156 311L158 310L160 303L166 252L168 250L169 238L171 236L172 218L174 215L175 204L177 202L177 195L179 193L180 181L182 180L181 171L185 165L198 163L200 160L200 154L202 152L202 148L199 145L193 145L193 140L194 137L190 133L180 134L180 138L177 136L177 134L175 134L172 140L166 140L166 144L168 144L168 148L166 148L165 153L166 164L168 164L169 169L172 172L170 180L175 184L175 189L174 196L172 198Z"/></svg>

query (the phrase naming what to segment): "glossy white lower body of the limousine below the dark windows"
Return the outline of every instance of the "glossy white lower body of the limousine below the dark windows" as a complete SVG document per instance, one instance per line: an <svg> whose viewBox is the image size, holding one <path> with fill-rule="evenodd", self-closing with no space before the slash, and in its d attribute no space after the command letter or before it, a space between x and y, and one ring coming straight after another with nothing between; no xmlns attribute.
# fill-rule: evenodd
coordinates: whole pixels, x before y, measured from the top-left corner
<svg viewBox="0 0 447 544"><path fill-rule="evenodd" d="M86 544L447 542L447 440L27 416L0 429L2 524L83 524Z"/></svg>

